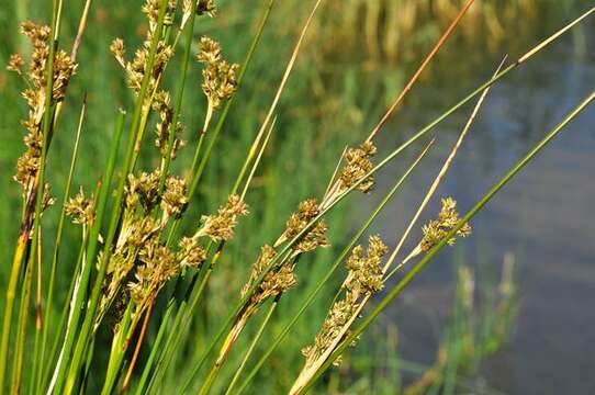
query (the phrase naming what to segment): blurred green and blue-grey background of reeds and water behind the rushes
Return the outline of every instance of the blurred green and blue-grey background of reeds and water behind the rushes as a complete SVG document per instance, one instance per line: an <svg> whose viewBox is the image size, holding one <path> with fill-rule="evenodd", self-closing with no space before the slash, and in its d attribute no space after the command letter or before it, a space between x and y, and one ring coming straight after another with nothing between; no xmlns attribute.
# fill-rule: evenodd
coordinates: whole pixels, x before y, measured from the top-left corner
<svg viewBox="0 0 595 395"><path fill-rule="evenodd" d="M267 2L220 1L216 19L199 20L197 40L204 34L213 36L222 42L229 60L242 61ZM114 37L124 38L130 48L142 41L145 21L139 12L141 3L116 0L93 3L79 52L78 72L69 87L68 105L49 154L48 179L58 201L82 97L88 95L88 115L75 185L80 184L88 191L100 177L101 166L97 163L105 161L115 111L119 106L130 108L132 98L125 88L124 75L109 46ZM197 202L184 222L187 233L195 228L201 213L214 211L224 201L272 100L312 3L285 0L276 4ZM461 3L456 0L325 1L277 112L273 140L248 196L251 215L238 228L236 240L242 241L229 245L217 268L209 290L210 303L202 306L188 342L188 353L178 361L179 369L170 371L169 381L179 379L179 372L188 366L192 356L203 350L210 331L217 328L216 323L247 278L259 246L280 234L299 201L324 192L345 145L357 143L368 134ZM489 78L504 53L513 57L521 54L590 3L592 5L591 1L581 0L478 0L402 111L385 127L379 144L380 155ZM16 34L19 21L47 22L49 4L34 0L1 0L0 4L0 64L7 64L11 53L26 52L25 42ZM81 7L82 2L68 2L65 8L61 41L65 47L70 46L76 34ZM593 22L587 22L494 89L471 132L469 145L440 193L452 194L462 207L468 207L559 120L560 114L593 87ZM173 61L170 77L177 75L176 67L178 63ZM200 67L194 64L182 111L187 126L183 138L190 148L181 151L173 163L178 173L188 171L191 147L197 143L204 116L205 100L200 83ZM165 84L171 88L175 81L166 80ZM3 224L0 257L4 262L0 267L0 290L5 285L20 213L20 189L12 181L12 174L23 149L24 133L19 124L25 115L25 104L19 93L22 88L15 76L0 70L0 221ZM437 150L423 166L411 190L382 216L374 232L388 240L396 238L464 123L464 113L459 114L438 132ZM558 142L553 154L534 166L527 177L515 182L512 191L498 198L494 207L476 219L472 240L444 253L429 270L431 273L425 273L419 283L414 284L400 306L372 327L350 351L346 363L322 383L319 391L392 394L401 386L419 384L419 380L427 376L424 372L431 366L435 369L430 372L439 373L437 379L417 390L518 394L595 391L595 379L581 375L581 372L593 371L595 361L577 357L581 352L591 356L595 352L593 335L575 336L571 340L572 328L557 324L559 320L574 327L595 324L587 303L595 294L595 273L585 263L595 256L593 247L585 246L595 239L595 234L592 221L582 215L584 211L592 211L587 199L595 192L590 178L595 143L593 133L585 131L588 127L593 131L593 111L585 116L590 121L573 126L568 133L571 137L564 136ZM329 223L334 248L301 262L298 272L301 289L283 301L272 334L280 330L305 290L322 275L334 251L346 242L414 154L415 149L411 150L381 174L378 191L372 196L349 200L343 210L333 214ZM155 153L146 149L139 168L153 169L156 160ZM430 214L434 210L436 205L430 207ZM56 210L48 212L46 224L55 224L57 214ZM52 241L54 232L55 227L46 227L46 244ZM582 242L576 240L581 237ZM68 275L79 242L78 230L67 227L65 238L65 245L71 248L63 249L60 271ZM516 257L518 267L520 296L514 303L514 309L518 308L517 325L509 323L513 306L505 312L494 308L502 305L497 284L504 256ZM461 307L465 297L459 279L464 275L460 274L462 267L472 268L476 279L472 298L478 301L470 311ZM68 283L69 279L65 279L58 284L60 300ZM298 330L283 342L255 382L267 383L267 387L255 384L255 393L278 393L292 382L303 363L299 350L312 341L334 293L333 289L326 290L319 303L301 319ZM249 339L249 330L240 341ZM148 336L149 339L155 336L154 327ZM109 337L105 330L103 340L109 341ZM473 338L471 348L469 337ZM439 349L442 353L445 349L450 350L446 352L446 361L440 360ZM104 363L106 354L99 352L97 357L97 363ZM232 372L238 358L240 356L232 356L227 363L229 371L223 376Z"/></svg>

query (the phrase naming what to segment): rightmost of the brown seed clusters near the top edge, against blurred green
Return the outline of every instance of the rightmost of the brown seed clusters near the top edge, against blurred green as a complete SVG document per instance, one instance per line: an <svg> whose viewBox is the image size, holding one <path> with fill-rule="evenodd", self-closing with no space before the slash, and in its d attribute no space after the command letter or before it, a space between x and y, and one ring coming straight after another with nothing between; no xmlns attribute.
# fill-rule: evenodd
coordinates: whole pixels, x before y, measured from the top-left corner
<svg viewBox="0 0 595 395"><path fill-rule="evenodd" d="M238 65L229 65L223 59L221 45L212 38L201 37L197 59L204 64L202 70L202 90L209 100L209 106L216 110L227 100L237 87Z"/></svg>

